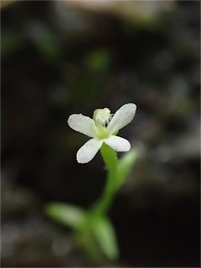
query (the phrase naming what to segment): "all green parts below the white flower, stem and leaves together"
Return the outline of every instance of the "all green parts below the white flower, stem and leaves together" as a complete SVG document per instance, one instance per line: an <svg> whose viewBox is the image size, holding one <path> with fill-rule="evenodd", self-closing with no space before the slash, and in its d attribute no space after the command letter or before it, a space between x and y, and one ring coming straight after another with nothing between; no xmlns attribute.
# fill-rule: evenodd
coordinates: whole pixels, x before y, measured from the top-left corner
<svg viewBox="0 0 201 268"><path fill-rule="evenodd" d="M137 154L137 150L133 149L118 160L116 151L103 143L101 155L108 174L101 197L88 210L60 202L52 202L45 206L45 214L50 218L73 228L77 244L93 262L100 263L104 256L113 261L119 258L117 238L112 223L107 218L107 211L111 207L114 195L131 172Z"/></svg>

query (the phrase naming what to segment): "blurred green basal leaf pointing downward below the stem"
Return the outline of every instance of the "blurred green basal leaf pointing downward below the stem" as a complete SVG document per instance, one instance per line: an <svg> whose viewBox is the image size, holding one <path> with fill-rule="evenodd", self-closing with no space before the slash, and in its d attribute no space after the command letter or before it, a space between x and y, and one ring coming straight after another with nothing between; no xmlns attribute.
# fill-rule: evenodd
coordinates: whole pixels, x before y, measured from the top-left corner
<svg viewBox="0 0 201 268"><path fill-rule="evenodd" d="M110 221L103 216L94 218L92 228L96 241L103 253L108 259L117 260L119 257L117 238Z"/></svg>

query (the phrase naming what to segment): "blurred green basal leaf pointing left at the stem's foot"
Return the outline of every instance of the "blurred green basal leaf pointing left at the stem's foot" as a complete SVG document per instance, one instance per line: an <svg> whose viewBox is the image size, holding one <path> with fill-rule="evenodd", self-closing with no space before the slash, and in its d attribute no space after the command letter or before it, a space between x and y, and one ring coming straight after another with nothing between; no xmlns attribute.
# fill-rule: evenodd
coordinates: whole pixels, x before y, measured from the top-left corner
<svg viewBox="0 0 201 268"><path fill-rule="evenodd" d="M45 205L45 214L54 221L70 226L75 230L82 229L86 220L86 213L80 207L71 204L52 202Z"/></svg>

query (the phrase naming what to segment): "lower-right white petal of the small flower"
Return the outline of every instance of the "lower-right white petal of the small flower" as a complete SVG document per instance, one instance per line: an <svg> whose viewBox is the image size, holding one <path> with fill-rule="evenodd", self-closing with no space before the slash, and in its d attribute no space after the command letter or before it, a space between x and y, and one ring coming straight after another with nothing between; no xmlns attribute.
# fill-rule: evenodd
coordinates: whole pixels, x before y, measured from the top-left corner
<svg viewBox="0 0 201 268"><path fill-rule="evenodd" d="M112 147L115 151L129 151L131 149L131 144L124 137L114 136L108 137L104 142Z"/></svg>

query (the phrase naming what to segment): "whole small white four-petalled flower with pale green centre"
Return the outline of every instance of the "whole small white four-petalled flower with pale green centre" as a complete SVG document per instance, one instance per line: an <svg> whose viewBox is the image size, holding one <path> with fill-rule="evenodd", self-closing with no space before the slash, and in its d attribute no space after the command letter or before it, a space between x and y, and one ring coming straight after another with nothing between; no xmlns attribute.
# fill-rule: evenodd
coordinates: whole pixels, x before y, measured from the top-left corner
<svg viewBox="0 0 201 268"><path fill-rule="evenodd" d="M125 104L113 116L108 108L97 109L94 111L93 119L83 114L71 114L68 118L70 128L92 137L77 151L77 162L84 164L91 161L101 149L103 142L115 151L129 151L130 142L115 134L133 120L136 107L134 103Z"/></svg>

